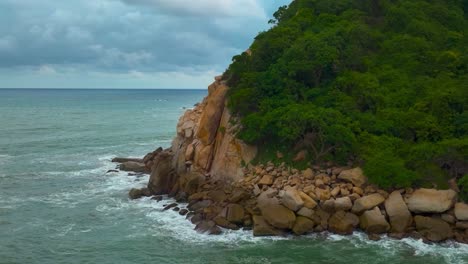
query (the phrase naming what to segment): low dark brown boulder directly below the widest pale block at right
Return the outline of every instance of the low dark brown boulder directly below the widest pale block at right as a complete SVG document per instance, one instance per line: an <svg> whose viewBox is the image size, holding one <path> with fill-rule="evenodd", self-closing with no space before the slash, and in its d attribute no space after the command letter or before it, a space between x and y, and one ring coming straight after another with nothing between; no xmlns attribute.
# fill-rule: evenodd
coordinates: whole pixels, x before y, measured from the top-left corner
<svg viewBox="0 0 468 264"><path fill-rule="evenodd" d="M418 215L414 218L414 222L418 232L430 241L444 241L453 236L450 225L441 219Z"/></svg>

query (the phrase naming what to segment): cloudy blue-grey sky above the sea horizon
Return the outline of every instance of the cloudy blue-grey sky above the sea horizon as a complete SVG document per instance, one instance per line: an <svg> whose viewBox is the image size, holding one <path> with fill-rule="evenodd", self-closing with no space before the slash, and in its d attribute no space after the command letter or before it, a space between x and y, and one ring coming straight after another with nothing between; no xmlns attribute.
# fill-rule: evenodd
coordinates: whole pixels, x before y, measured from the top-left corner
<svg viewBox="0 0 468 264"><path fill-rule="evenodd" d="M0 0L0 88L205 88L291 0Z"/></svg>

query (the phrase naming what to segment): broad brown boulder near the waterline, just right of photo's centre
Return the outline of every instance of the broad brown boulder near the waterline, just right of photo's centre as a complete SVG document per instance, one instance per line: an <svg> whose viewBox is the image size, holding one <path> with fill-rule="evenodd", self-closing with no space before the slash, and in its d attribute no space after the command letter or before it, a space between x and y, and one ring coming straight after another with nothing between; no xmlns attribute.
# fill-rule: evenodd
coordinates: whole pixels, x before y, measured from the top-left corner
<svg viewBox="0 0 468 264"><path fill-rule="evenodd" d="M296 222L293 211L283 205L268 204L260 208L265 220L272 226L280 229L292 229Z"/></svg>

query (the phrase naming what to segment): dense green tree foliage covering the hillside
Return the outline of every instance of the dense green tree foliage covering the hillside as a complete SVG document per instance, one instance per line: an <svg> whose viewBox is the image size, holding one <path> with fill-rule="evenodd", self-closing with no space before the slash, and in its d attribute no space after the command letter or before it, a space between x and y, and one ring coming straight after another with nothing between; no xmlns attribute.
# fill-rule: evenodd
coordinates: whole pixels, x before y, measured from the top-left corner
<svg viewBox="0 0 468 264"><path fill-rule="evenodd" d="M224 74L238 136L382 187L468 173L468 1L295 0ZM468 188L467 192L468 192Z"/></svg>

